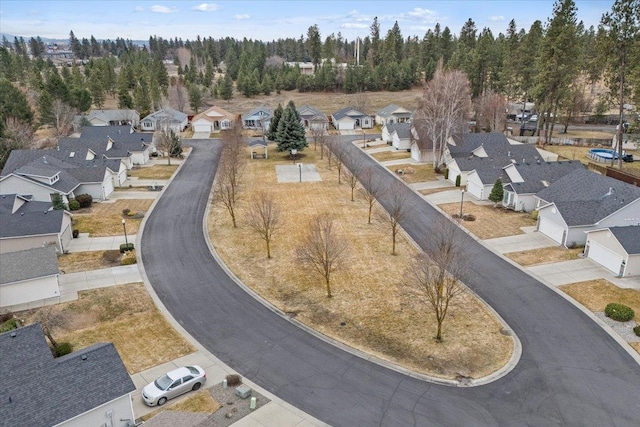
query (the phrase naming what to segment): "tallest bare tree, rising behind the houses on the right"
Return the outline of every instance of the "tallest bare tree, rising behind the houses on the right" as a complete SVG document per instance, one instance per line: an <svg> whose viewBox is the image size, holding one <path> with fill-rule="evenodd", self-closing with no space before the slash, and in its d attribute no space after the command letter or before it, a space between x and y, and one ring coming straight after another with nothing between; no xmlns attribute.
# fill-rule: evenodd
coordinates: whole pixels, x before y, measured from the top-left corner
<svg viewBox="0 0 640 427"><path fill-rule="evenodd" d="M442 64L425 85L415 114L418 146L433 151L433 166L442 160L449 138L462 132L469 121L471 95L467 76L458 70L444 71Z"/></svg>

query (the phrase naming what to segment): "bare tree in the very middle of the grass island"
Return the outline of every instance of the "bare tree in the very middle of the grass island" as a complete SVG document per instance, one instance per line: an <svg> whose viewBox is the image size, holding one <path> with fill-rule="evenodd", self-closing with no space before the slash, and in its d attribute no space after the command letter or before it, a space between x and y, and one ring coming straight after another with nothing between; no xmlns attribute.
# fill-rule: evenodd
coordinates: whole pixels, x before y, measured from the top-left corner
<svg viewBox="0 0 640 427"><path fill-rule="evenodd" d="M320 214L313 219L309 231L297 249L300 263L313 267L322 275L331 298L331 274L345 264L347 241L340 236L333 218Z"/></svg>

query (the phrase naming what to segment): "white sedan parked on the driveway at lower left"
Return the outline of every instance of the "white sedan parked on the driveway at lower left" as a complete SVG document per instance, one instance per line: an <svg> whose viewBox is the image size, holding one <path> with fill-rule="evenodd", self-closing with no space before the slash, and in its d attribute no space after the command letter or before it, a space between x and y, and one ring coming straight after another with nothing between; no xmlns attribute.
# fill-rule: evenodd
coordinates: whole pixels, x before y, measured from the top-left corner
<svg viewBox="0 0 640 427"><path fill-rule="evenodd" d="M167 400L191 390L198 390L207 381L200 366L183 366L167 372L142 389L142 400L149 406L164 405Z"/></svg>

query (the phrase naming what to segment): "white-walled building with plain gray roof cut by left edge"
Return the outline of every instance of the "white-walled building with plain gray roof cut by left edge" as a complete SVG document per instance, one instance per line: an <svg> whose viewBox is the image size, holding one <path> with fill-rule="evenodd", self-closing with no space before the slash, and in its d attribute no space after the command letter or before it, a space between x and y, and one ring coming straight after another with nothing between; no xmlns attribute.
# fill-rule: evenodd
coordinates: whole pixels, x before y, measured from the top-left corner
<svg viewBox="0 0 640 427"><path fill-rule="evenodd" d="M0 252L0 311L20 311L34 304L58 302L59 274L55 246Z"/></svg>

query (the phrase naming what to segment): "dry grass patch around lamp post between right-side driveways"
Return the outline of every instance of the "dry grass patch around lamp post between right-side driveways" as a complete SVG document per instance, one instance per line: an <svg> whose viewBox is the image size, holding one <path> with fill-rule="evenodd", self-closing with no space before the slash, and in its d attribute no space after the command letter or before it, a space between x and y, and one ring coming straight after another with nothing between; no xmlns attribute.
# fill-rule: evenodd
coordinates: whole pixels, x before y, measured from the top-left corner
<svg viewBox="0 0 640 427"><path fill-rule="evenodd" d="M460 214L460 203L446 203L439 206L449 215ZM530 213L514 212L509 209L494 208L464 202L463 214L471 214L475 221L463 221L462 226L480 239L514 236L522 234L521 227L536 225Z"/></svg>

